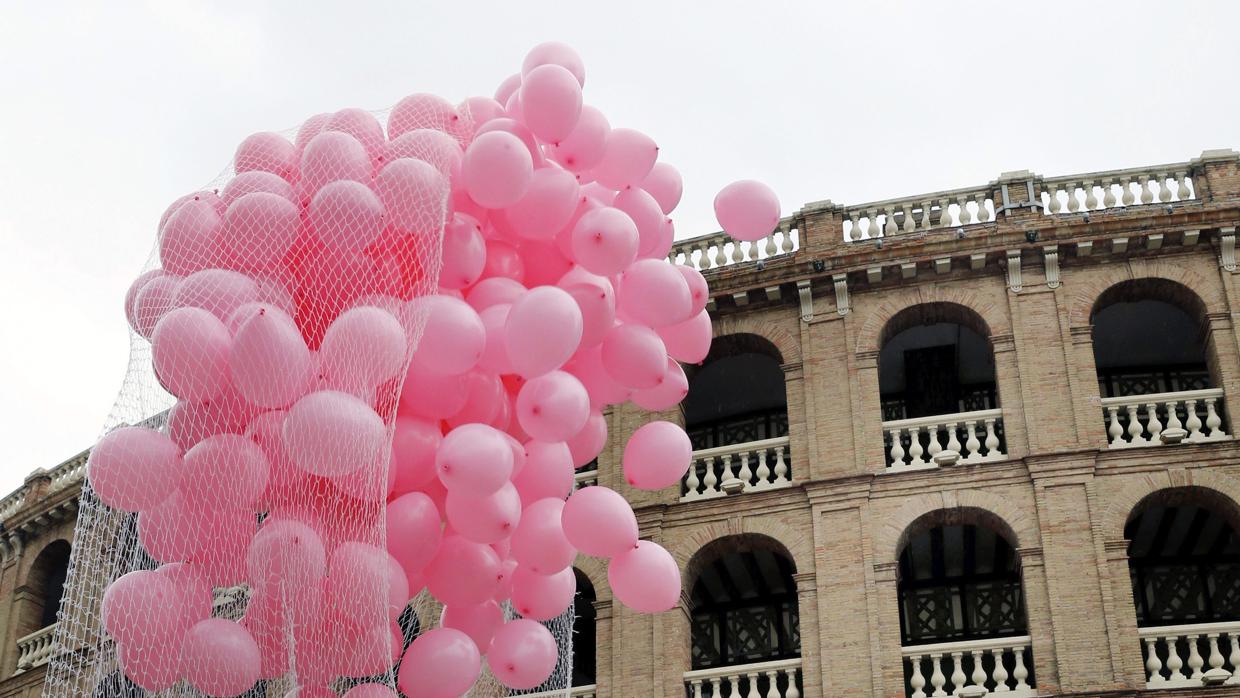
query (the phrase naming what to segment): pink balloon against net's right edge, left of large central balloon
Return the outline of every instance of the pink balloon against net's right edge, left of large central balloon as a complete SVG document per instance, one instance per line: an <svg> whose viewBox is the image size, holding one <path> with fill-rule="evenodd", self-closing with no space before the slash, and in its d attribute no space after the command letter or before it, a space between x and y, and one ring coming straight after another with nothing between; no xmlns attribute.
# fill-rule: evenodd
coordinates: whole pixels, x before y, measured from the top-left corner
<svg viewBox="0 0 1240 698"><path fill-rule="evenodd" d="M477 312L453 296L417 299L415 312L425 319L414 360L438 373L465 373L477 366L486 348L486 327Z"/></svg>

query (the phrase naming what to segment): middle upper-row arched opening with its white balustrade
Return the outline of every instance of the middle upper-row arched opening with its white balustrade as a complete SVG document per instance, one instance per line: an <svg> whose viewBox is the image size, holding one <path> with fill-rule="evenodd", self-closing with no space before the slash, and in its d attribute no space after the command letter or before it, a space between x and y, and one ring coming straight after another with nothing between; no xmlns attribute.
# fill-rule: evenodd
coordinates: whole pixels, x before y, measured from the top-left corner
<svg viewBox="0 0 1240 698"><path fill-rule="evenodd" d="M888 466L1006 457L990 327L972 310L925 303L897 312L878 353ZM951 462L956 462L952 460Z"/></svg>

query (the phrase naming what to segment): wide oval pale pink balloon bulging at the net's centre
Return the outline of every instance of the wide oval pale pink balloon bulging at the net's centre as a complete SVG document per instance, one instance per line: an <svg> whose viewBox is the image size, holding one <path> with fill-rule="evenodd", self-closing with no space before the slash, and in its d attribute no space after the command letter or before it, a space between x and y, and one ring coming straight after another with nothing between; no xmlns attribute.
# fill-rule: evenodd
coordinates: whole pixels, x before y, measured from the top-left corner
<svg viewBox="0 0 1240 698"><path fill-rule="evenodd" d="M339 391L299 399L284 418L289 456L312 475L339 477L388 457L387 428L371 405Z"/></svg>

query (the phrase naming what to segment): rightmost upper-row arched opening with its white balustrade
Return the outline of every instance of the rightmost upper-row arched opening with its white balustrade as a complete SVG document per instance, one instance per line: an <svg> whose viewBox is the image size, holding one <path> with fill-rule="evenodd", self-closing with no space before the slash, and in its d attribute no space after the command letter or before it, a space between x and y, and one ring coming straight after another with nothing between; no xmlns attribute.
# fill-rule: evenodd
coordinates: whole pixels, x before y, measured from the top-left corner
<svg viewBox="0 0 1240 698"><path fill-rule="evenodd" d="M1166 279L1123 281L1099 296L1090 321L1111 448L1226 436L1197 294Z"/></svg>

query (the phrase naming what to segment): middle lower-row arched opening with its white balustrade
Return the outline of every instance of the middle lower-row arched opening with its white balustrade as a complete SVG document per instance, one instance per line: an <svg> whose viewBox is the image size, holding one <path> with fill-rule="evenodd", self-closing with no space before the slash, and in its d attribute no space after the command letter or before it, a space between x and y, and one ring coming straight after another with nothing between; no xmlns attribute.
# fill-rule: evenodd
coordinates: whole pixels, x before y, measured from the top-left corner
<svg viewBox="0 0 1240 698"><path fill-rule="evenodd" d="M945 686L1034 694L1021 564L1002 529L982 512L944 511L905 533L897 589L909 696Z"/></svg>

